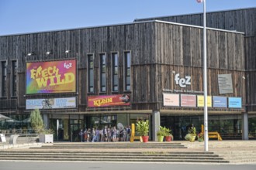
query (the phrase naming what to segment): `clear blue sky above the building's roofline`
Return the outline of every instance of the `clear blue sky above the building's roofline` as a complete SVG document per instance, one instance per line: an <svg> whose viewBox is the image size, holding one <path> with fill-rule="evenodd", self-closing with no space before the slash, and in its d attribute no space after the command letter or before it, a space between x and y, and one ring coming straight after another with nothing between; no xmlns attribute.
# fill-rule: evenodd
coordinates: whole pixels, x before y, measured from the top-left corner
<svg viewBox="0 0 256 170"><path fill-rule="evenodd" d="M206 0L206 12L255 7L256 0ZM202 3L196 0L0 0L0 36L202 11Z"/></svg>

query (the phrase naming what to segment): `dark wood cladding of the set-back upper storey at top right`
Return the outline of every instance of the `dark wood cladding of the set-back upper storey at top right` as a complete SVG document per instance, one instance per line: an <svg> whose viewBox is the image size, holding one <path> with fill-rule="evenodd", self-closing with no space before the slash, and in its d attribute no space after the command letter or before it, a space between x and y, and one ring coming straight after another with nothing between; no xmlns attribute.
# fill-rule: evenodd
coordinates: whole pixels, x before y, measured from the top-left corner
<svg viewBox="0 0 256 170"><path fill-rule="evenodd" d="M161 20L167 22L189 24L193 26L203 26L202 13L154 17L149 19L136 19L135 22L148 20ZM256 8L242 8L229 11L207 12L206 26L216 29L244 32L245 36L256 36Z"/></svg>

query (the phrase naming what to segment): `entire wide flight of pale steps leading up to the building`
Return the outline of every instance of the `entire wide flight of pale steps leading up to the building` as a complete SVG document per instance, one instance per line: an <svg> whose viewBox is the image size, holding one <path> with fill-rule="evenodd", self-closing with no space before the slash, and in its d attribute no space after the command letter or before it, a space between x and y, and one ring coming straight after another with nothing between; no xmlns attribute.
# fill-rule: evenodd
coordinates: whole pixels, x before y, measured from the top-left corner
<svg viewBox="0 0 256 170"><path fill-rule="evenodd" d="M153 148L154 151L148 148ZM44 145L41 148L30 148L22 151L20 149L3 150L0 152L0 160L46 162L229 163L229 161L224 160L213 152L187 150L184 145L175 142L148 142L146 144L121 142L54 143L54 145Z"/></svg>

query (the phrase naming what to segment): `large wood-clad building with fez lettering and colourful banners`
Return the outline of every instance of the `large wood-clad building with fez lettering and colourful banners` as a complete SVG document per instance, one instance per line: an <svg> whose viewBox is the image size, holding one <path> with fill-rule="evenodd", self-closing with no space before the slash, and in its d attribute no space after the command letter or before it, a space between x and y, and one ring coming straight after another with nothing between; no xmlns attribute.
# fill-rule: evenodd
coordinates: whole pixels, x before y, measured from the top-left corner
<svg viewBox="0 0 256 170"><path fill-rule="evenodd" d="M255 8L229 15L239 13L252 14ZM178 140L191 123L200 131L202 27L193 25L201 14L166 19L175 17L176 22L137 19L1 36L0 113L16 123L5 121L0 127L29 128L30 111L39 108L60 141L78 141L81 128L126 126L140 118L150 120L151 140L159 125L171 128ZM248 117L255 114L250 80L256 49L247 47L253 47L255 36L246 35L243 29L207 29L209 131L219 131L223 139L247 139Z"/></svg>

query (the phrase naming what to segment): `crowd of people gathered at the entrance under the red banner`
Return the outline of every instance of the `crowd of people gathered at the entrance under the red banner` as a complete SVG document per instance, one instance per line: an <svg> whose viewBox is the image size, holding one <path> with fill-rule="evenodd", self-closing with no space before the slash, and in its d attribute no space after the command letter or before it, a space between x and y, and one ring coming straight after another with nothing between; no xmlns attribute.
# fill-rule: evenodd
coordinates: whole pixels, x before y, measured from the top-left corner
<svg viewBox="0 0 256 170"><path fill-rule="evenodd" d="M116 142L116 141L130 141L130 126L126 126L124 128L116 128L116 126L112 128L88 128L79 132L81 137L81 141L85 142Z"/></svg>

